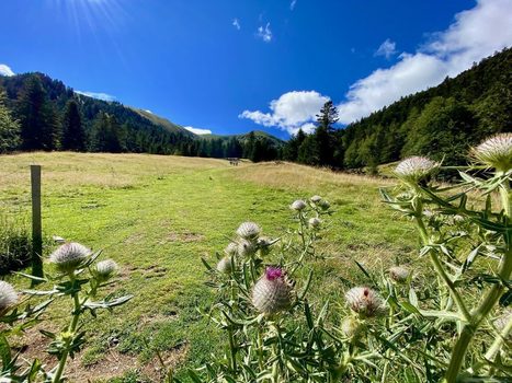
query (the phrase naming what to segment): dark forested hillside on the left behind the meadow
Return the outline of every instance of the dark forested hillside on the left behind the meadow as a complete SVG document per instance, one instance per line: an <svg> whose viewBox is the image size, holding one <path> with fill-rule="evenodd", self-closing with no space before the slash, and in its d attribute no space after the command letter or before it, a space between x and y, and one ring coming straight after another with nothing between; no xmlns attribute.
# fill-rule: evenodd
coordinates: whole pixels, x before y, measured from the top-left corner
<svg viewBox="0 0 512 383"><path fill-rule="evenodd" d="M150 112L79 94L43 73L0 76L0 153L71 150L262 161L277 158L281 146L260 135L203 139Z"/></svg>

